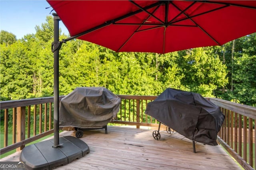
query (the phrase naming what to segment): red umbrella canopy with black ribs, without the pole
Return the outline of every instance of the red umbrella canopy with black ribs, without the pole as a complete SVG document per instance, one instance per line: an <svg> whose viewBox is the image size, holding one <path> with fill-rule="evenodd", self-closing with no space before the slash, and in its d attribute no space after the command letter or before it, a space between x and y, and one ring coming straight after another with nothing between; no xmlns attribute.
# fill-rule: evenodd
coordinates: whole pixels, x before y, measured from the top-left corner
<svg viewBox="0 0 256 170"><path fill-rule="evenodd" d="M71 37L117 52L169 53L256 32L255 0L47 0Z"/></svg>

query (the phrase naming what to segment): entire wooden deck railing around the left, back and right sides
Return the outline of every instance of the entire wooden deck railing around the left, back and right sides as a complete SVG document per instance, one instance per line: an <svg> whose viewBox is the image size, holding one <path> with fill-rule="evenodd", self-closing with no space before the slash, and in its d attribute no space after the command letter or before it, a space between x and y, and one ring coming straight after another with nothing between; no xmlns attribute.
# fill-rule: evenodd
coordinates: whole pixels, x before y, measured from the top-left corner
<svg viewBox="0 0 256 170"><path fill-rule="evenodd" d="M158 126L156 119L144 113L147 104L156 96L118 96L122 100L114 123L136 125L137 128ZM243 168L253 169L256 162L256 107L216 98L208 100L220 106L226 117L218 133L218 143ZM53 133L53 97L4 101L0 109L1 119L4 119L4 147L0 154L13 149L21 150L26 144ZM9 141L8 135L12 136L12 141Z"/></svg>

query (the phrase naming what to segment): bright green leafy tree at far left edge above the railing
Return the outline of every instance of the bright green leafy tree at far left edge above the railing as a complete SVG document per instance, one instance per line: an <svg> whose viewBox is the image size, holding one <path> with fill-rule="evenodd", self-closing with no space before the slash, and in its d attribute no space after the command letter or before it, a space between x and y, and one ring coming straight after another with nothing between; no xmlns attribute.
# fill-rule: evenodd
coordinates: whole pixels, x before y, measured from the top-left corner
<svg viewBox="0 0 256 170"><path fill-rule="evenodd" d="M28 98L32 91L32 65L24 45L20 41L7 47L1 45L0 59L1 98L11 100Z"/></svg>

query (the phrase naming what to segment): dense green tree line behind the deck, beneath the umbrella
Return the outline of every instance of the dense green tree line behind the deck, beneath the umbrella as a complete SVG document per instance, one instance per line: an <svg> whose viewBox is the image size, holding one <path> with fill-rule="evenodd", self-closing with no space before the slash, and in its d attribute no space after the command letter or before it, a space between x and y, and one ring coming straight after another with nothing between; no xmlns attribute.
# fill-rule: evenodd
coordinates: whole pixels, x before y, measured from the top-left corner
<svg viewBox="0 0 256 170"><path fill-rule="evenodd" d="M0 35L1 100L53 96L53 18L22 39ZM61 33L60 39L67 38ZM256 33L222 46L167 54L116 53L74 39L60 50L60 95L80 86L114 94L159 95L166 88L256 106Z"/></svg>

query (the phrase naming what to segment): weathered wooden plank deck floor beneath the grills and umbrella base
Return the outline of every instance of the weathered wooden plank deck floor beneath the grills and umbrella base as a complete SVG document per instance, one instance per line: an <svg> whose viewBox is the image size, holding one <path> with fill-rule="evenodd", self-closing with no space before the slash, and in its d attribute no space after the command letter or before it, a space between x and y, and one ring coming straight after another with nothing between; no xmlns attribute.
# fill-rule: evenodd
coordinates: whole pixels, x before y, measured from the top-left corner
<svg viewBox="0 0 256 170"><path fill-rule="evenodd" d="M149 129L108 126L104 129L84 131L81 138L90 148L86 156L74 160L58 170L239 170L240 166L218 146L196 143L183 139L178 133L170 136L160 131L156 141ZM74 131L64 131L61 136L75 136ZM18 161L16 152L0 161Z"/></svg>

